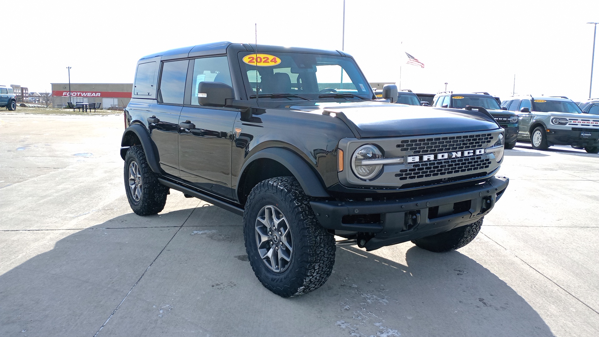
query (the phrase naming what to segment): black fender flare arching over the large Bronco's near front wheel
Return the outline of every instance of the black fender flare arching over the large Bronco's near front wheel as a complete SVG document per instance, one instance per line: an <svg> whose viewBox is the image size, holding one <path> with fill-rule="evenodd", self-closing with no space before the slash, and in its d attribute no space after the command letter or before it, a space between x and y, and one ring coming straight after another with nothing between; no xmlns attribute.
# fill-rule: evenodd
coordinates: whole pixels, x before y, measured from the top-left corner
<svg viewBox="0 0 599 337"><path fill-rule="evenodd" d="M237 178L237 191L238 194L241 179L243 178L243 172L246 171L247 167L252 164L253 161L268 158L277 161L286 167L298 180L299 185L304 189L304 193L310 197L331 197L325 188L319 177L316 175L314 170L295 152L289 151L283 148L265 148L256 154L252 155L246 163L241 167L241 174Z"/></svg>

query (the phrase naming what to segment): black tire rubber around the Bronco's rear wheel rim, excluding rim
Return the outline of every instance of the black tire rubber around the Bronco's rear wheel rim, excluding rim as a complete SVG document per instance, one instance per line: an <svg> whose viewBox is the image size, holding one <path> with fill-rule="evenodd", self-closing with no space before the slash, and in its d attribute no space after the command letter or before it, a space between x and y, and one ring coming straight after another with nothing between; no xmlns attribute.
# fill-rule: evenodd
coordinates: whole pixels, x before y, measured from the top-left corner
<svg viewBox="0 0 599 337"><path fill-rule="evenodd" d="M135 162L141 177L141 195L135 200L129 187L129 169L131 163ZM158 174L154 173L146 160L146 154L141 145L131 146L125 155L125 167L123 171L125 178L125 192L129 205L137 215L152 215L164 209L167 203L168 187L158 182Z"/></svg>

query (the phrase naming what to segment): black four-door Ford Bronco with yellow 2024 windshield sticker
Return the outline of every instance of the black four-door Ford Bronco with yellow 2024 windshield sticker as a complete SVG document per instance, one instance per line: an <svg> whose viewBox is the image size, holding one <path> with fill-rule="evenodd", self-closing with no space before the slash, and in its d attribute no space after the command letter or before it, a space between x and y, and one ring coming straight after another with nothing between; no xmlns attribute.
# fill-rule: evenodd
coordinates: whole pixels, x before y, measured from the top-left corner
<svg viewBox="0 0 599 337"><path fill-rule="evenodd" d="M339 51L157 53L138 61L125 110L126 195L138 215L161 212L170 189L243 215L259 281L304 294L331 274L336 245L442 252L474 239L508 184L495 177L504 129L480 110L377 101Z"/></svg>

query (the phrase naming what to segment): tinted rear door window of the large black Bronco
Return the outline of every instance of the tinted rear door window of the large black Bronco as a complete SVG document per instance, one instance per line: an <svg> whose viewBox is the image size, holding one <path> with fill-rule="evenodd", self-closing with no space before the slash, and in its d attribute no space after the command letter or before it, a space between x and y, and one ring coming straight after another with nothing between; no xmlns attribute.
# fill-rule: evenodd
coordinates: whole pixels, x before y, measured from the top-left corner
<svg viewBox="0 0 599 337"><path fill-rule="evenodd" d="M164 62L160 77L162 103L183 104L189 60Z"/></svg>

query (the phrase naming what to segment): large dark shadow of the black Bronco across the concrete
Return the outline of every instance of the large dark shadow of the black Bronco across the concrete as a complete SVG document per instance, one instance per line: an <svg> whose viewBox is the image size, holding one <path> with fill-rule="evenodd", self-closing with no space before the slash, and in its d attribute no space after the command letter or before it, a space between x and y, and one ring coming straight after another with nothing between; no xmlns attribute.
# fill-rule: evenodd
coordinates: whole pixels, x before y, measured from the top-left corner
<svg viewBox="0 0 599 337"><path fill-rule="evenodd" d="M0 336L91 337L101 327L98 337L552 336L476 261L411 243L337 248L325 285L276 296L247 261L241 217L216 206L117 216L0 275Z"/></svg>

